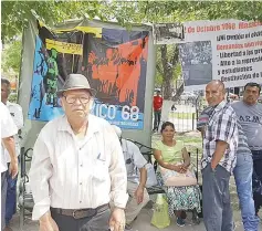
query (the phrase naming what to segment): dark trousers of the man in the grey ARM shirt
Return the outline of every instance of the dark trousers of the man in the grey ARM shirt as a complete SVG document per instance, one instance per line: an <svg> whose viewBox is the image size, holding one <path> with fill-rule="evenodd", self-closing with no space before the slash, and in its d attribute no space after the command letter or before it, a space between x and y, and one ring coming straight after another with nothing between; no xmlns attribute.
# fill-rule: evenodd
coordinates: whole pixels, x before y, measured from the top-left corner
<svg viewBox="0 0 262 231"><path fill-rule="evenodd" d="M253 189L259 183L256 191L253 190L254 209L258 214L262 207L262 150L251 150L253 157Z"/></svg>

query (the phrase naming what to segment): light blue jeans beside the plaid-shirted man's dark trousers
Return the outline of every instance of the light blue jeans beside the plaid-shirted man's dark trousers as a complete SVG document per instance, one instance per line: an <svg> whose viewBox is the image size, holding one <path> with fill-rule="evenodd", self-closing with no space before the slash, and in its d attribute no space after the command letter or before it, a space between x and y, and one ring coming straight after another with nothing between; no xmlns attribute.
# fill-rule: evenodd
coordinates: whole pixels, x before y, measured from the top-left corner
<svg viewBox="0 0 262 231"><path fill-rule="evenodd" d="M237 166L233 170L242 222L245 231L258 231L259 218L254 212L252 193L253 160L249 154L238 154Z"/></svg>

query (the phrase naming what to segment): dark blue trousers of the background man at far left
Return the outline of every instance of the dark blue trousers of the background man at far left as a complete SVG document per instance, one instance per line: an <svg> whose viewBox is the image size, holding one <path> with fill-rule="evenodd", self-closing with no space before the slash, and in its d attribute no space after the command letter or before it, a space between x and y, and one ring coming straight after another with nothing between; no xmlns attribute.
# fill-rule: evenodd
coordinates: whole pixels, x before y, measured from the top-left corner
<svg viewBox="0 0 262 231"><path fill-rule="evenodd" d="M12 219L12 216L17 212L17 181L18 176L14 179L12 179L12 176L9 172L7 174L7 182L8 182L7 202L6 202L7 225Z"/></svg>

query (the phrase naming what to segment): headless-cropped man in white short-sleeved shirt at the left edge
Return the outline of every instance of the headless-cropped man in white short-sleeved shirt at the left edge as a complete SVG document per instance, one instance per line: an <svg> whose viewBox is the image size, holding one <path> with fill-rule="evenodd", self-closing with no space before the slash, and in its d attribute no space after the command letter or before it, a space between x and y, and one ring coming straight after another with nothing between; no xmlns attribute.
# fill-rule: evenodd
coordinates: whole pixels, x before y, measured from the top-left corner
<svg viewBox="0 0 262 231"><path fill-rule="evenodd" d="M1 112L1 230L6 228L6 198L7 198L7 172L8 165L4 155L4 148L7 148L11 161L9 165L9 171L12 178L18 175L18 157L15 154L15 144L13 136L18 133L18 128L12 120L12 117L2 102L0 102Z"/></svg>

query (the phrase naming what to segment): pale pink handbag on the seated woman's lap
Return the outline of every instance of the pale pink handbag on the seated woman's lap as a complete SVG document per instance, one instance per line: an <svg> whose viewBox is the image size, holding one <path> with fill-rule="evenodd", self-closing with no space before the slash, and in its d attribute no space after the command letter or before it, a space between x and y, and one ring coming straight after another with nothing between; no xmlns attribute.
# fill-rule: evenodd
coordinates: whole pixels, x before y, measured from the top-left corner
<svg viewBox="0 0 262 231"><path fill-rule="evenodd" d="M181 165L181 164L177 162L176 165ZM166 169L159 166L159 171L161 174L165 186L182 187L182 186L197 185L196 175L190 168L188 168L185 174L180 174L180 172Z"/></svg>

